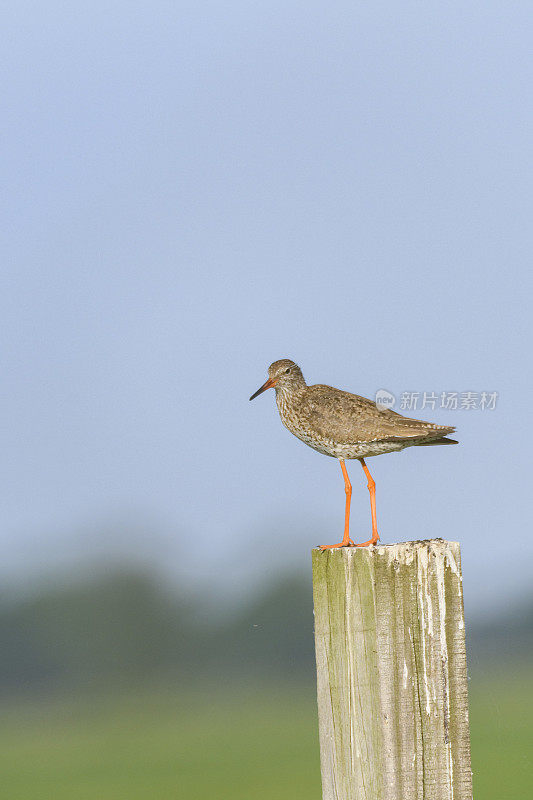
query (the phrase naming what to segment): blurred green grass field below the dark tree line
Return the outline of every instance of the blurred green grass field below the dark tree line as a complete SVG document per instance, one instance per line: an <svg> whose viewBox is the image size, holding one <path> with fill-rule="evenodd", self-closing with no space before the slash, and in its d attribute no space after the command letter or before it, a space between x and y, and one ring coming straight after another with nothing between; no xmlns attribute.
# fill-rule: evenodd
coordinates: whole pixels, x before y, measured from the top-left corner
<svg viewBox="0 0 533 800"><path fill-rule="evenodd" d="M530 678L472 682L474 794L529 794ZM28 701L0 723L2 800L320 800L312 688Z"/></svg>

